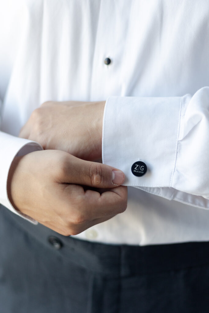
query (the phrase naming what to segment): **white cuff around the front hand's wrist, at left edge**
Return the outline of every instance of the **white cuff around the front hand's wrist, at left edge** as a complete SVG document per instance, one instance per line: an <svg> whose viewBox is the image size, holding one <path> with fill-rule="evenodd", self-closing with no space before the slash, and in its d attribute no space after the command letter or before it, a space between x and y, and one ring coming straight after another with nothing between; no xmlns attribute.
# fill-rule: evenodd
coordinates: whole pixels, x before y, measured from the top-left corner
<svg viewBox="0 0 209 313"><path fill-rule="evenodd" d="M26 214L18 212L8 198L7 179L10 166L15 156L23 156L33 151L43 150L43 147L35 141L14 137L0 131L0 203L13 213L21 216L33 224L38 224L33 218Z"/></svg>

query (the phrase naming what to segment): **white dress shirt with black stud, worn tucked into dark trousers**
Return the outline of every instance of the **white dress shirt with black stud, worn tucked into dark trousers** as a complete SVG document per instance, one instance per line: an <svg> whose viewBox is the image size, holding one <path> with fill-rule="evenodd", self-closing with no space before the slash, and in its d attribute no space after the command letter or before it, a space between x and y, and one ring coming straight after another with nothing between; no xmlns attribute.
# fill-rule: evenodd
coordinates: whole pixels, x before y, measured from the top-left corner
<svg viewBox="0 0 209 313"><path fill-rule="evenodd" d="M208 4L0 0L0 203L19 214L7 175L17 153L42 149L17 137L35 108L106 100L102 160L125 173L128 207L75 237L209 240ZM147 165L142 177L136 161Z"/></svg>

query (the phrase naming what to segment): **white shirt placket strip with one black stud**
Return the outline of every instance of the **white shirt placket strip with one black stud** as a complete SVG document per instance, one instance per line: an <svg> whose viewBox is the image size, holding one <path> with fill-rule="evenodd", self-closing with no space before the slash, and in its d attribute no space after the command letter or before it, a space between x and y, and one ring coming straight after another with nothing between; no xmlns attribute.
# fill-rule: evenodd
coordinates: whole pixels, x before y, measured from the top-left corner
<svg viewBox="0 0 209 313"><path fill-rule="evenodd" d="M123 54L131 1L101 0L93 66L90 100L106 100L121 95Z"/></svg>

